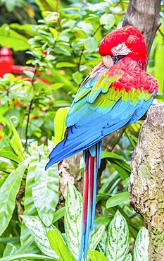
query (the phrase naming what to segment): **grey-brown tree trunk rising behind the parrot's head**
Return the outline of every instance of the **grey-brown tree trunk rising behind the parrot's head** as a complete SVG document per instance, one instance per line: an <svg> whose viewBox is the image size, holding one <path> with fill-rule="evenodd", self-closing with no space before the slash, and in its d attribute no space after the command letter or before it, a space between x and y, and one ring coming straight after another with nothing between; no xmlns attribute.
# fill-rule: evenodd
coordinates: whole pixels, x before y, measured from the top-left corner
<svg viewBox="0 0 164 261"><path fill-rule="evenodd" d="M133 25L141 31L148 54L160 26L160 2L161 0L131 0L123 21L123 26Z"/></svg>

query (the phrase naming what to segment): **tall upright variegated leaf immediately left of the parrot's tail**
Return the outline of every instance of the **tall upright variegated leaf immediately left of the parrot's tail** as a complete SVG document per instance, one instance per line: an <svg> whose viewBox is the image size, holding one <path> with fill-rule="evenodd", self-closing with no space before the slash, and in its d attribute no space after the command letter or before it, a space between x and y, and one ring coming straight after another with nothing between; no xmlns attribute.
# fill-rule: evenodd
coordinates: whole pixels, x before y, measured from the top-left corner
<svg viewBox="0 0 164 261"><path fill-rule="evenodd" d="M82 195L72 183L68 185L68 193L65 201L65 233L68 248L75 259L78 260L80 249L82 225Z"/></svg>

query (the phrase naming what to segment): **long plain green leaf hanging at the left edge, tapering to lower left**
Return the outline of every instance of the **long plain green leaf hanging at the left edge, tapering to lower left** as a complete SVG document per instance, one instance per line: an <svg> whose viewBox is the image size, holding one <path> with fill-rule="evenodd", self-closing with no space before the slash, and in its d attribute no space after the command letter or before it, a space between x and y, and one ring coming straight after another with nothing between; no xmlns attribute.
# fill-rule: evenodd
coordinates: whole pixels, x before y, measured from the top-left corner
<svg viewBox="0 0 164 261"><path fill-rule="evenodd" d="M18 165L18 168L11 172L0 188L0 235L5 231L11 220L15 208L15 198L20 188L20 182L29 163L30 157L21 162Z"/></svg>

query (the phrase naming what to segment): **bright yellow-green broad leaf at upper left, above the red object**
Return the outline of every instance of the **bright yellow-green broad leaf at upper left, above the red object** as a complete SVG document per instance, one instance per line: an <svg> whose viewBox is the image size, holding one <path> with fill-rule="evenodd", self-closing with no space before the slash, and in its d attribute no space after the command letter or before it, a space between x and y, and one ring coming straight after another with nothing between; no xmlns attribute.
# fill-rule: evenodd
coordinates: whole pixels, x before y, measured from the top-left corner
<svg viewBox="0 0 164 261"><path fill-rule="evenodd" d="M30 44L27 43L28 38L12 30L9 25L1 26L0 35L1 46L12 48L14 51L30 49Z"/></svg>

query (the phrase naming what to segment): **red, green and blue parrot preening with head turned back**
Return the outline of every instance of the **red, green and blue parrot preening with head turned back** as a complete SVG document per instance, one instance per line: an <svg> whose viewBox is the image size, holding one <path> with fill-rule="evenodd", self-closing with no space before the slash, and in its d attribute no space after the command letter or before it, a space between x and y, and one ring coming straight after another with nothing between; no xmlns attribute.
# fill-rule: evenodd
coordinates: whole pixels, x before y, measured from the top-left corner
<svg viewBox="0 0 164 261"><path fill-rule="evenodd" d="M112 30L99 45L102 61L80 86L66 117L63 140L49 154L51 165L83 151L84 186L79 259L87 257L96 211L96 178L101 140L127 123L136 122L151 106L158 83L145 72L144 36L132 25Z"/></svg>

